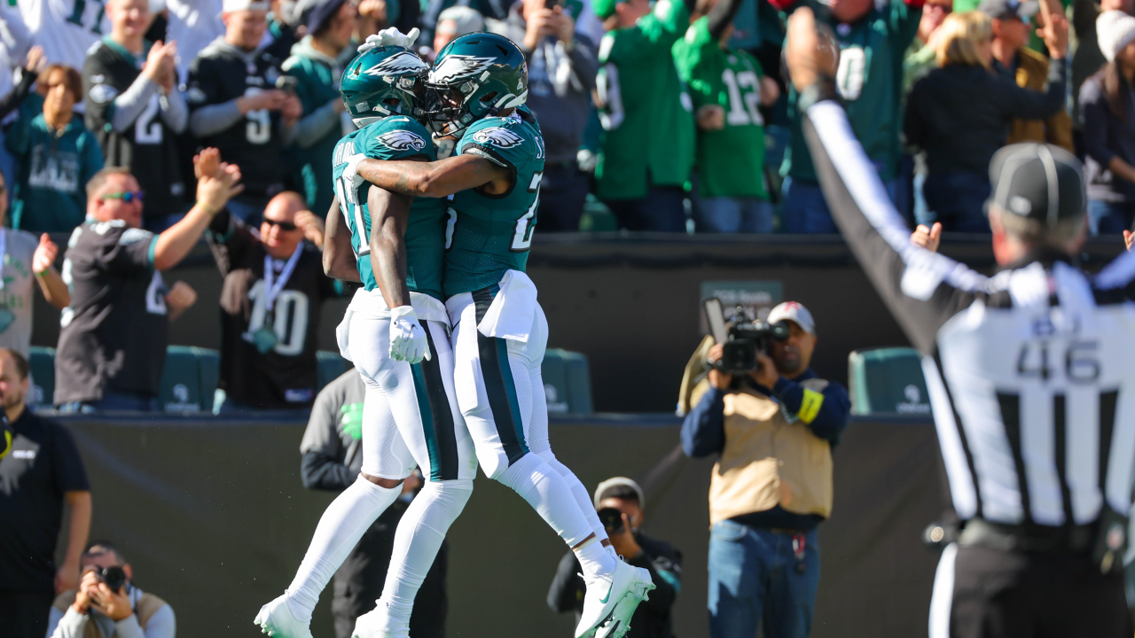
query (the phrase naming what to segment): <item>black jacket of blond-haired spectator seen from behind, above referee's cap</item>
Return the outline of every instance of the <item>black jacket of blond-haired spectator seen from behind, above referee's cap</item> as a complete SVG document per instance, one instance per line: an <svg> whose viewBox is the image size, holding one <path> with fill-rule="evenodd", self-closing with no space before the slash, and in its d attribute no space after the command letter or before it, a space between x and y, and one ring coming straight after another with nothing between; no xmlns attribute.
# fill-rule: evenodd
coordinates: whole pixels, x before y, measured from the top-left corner
<svg viewBox="0 0 1135 638"><path fill-rule="evenodd" d="M1063 108L1066 67L1049 65L1046 93L980 66L936 68L910 90L902 133L908 144L926 151L931 175L985 175L1015 118L1045 119Z"/></svg>

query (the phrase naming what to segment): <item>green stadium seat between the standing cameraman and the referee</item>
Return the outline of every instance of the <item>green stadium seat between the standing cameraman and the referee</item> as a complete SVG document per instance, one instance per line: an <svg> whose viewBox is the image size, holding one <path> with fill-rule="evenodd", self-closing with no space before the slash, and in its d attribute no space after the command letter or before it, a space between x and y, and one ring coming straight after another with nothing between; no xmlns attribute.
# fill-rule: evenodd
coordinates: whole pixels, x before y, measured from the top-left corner
<svg viewBox="0 0 1135 638"><path fill-rule="evenodd" d="M852 414L930 414L922 356L911 347L849 354L848 391Z"/></svg>

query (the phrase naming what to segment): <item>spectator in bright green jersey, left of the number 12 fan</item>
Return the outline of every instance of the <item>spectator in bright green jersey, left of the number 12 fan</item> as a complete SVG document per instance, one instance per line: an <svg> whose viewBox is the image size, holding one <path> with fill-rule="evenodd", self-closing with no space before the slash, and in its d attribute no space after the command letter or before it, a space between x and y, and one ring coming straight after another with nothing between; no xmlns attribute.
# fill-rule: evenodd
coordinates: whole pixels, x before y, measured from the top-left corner
<svg viewBox="0 0 1135 638"><path fill-rule="evenodd" d="M739 0L726 0L735 2ZM596 195L628 230L686 232L693 165L693 104L671 48L689 27L693 0L596 0L607 30L599 51Z"/></svg>

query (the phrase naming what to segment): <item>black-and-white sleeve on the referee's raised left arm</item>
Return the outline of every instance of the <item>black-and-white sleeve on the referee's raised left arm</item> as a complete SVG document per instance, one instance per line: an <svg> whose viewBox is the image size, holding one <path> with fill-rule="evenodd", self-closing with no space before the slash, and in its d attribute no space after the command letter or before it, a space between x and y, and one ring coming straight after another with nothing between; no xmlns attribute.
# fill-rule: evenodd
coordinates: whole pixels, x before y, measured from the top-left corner
<svg viewBox="0 0 1135 638"><path fill-rule="evenodd" d="M825 99L801 110L805 140L843 240L910 342L933 353L939 328L968 307L989 279L910 243L910 229L839 103Z"/></svg>

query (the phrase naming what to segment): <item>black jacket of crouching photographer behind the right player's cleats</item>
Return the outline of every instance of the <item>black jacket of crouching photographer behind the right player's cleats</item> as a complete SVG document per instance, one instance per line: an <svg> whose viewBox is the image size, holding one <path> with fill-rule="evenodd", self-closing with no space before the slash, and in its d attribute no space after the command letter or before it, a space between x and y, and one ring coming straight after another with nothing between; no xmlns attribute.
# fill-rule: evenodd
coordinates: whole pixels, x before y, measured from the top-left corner
<svg viewBox="0 0 1135 638"><path fill-rule="evenodd" d="M638 531L634 532L634 540L642 547L642 552L638 556L628 557L627 562L648 570L655 589L634 610L627 638L673 638L671 608L682 588L682 553L665 540L655 540ZM575 622L579 622L583 612L583 593L587 590L583 578L579 576L581 571L575 554L568 552L560 561L560 569L548 589L548 606L552 611L574 611Z"/></svg>

